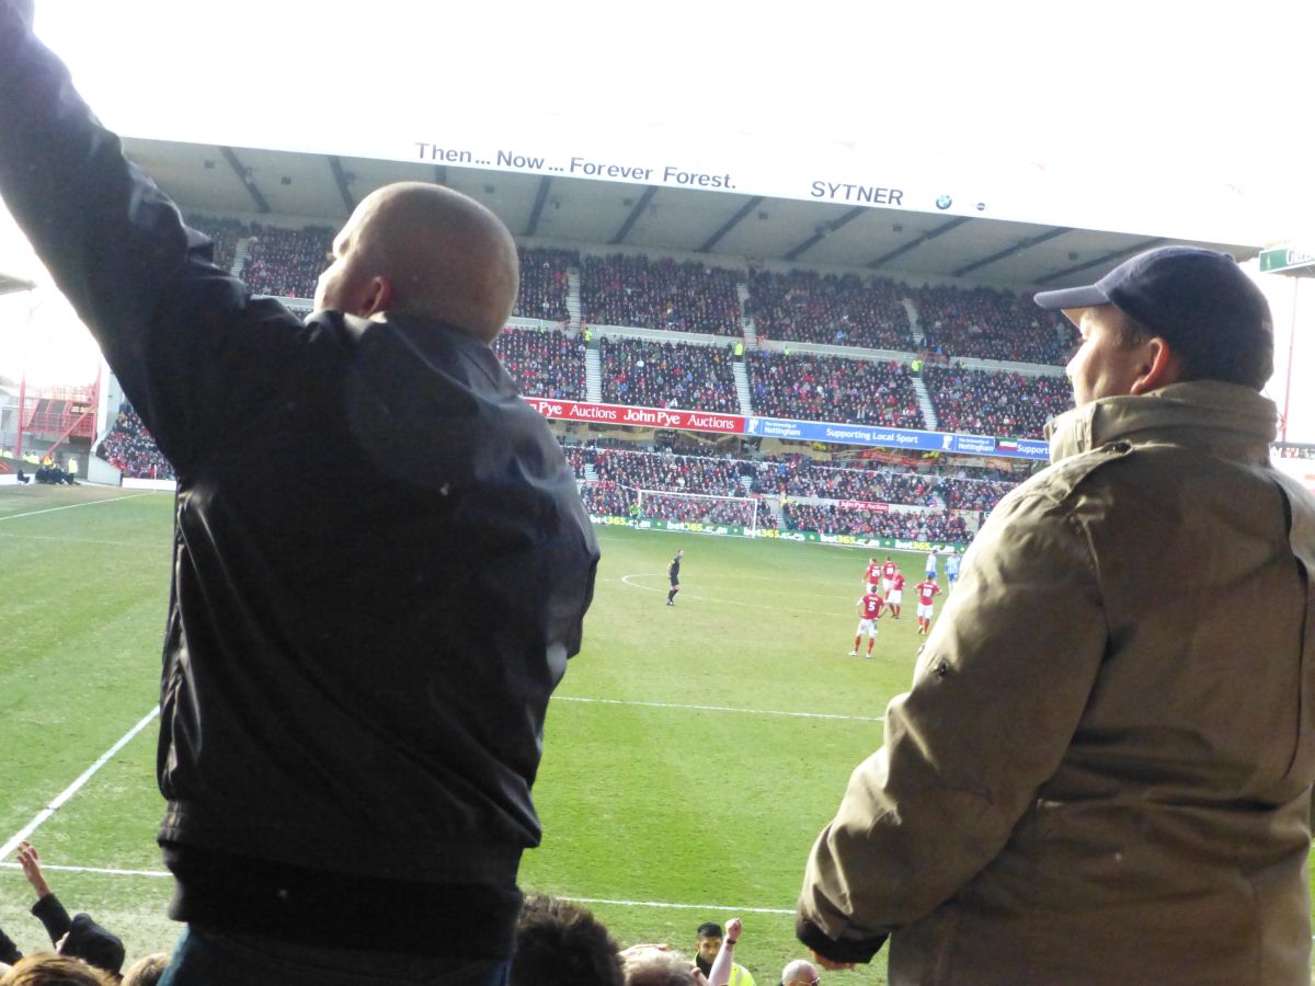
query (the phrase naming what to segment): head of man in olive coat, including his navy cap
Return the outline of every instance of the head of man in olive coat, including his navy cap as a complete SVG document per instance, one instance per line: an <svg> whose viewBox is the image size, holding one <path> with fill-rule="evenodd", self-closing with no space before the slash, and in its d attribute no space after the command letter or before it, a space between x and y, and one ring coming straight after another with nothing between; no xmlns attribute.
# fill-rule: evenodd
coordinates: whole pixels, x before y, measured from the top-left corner
<svg viewBox="0 0 1315 986"><path fill-rule="evenodd" d="M1082 344L1068 364L1081 408L1189 380L1260 390L1274 371L1274 326L1260 288L1228 254L1159 247L1124 260L1095 284L1045 291Z"/></svg>

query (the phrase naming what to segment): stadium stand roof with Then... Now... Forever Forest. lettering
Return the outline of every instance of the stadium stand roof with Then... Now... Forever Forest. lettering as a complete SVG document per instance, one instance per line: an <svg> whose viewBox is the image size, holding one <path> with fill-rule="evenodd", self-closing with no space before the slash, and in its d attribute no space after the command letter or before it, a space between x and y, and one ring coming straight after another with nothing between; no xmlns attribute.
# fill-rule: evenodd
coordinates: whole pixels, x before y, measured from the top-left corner
<svg viewBox="0 0 1315 986"><path fill-rule="evenodd" d="M518 238L705 254L801 267L865 268L896 279L1056 288L1089 283L1123 258L1168 242L1081 230L830 201L584 180L421 162L125 139L184 209L270 214L337 227L391 181L437 181L497 213ZM1253 246L1205 243L1239 260ZM734 258L734 260L732 260Z"/></svg>

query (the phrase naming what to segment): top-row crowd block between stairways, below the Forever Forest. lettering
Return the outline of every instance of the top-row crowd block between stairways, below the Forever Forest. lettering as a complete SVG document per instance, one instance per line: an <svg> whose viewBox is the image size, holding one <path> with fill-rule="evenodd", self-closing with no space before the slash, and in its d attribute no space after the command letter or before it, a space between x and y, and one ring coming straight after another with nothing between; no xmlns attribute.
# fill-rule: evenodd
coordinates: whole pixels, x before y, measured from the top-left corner
<svg viewBox="0 0 1315 986"><path fill-rule="evenodd" d="M739 279L735 271L689 260L585 256L581 317L592 325L739 335Z"/></svg>

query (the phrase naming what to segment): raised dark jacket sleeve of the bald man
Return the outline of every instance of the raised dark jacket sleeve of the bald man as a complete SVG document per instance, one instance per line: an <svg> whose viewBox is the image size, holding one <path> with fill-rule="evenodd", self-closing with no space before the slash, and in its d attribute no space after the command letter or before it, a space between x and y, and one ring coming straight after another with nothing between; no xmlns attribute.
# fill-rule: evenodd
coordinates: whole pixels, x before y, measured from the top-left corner
<svg viewBox="0 0 1315 986"><path fill-rule="evenodd" d="M142 57L149 57L143 53ZM175 467L237 440L305 330L210 263L210 242L130 163L68 70L0 0L0 196Z"/></svg>

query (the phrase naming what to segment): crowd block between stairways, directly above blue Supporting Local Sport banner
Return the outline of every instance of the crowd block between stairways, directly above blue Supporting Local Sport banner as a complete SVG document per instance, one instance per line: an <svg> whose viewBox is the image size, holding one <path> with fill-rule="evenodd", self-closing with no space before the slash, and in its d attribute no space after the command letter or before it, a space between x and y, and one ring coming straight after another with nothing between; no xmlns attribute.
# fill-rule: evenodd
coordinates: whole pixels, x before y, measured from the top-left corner
<svg viewBox="0 0 1315 986"><path fill-rule="evenodd" d="M926 427L903 363L755 350L747 354L753 411L772 418Z"/></svg>

